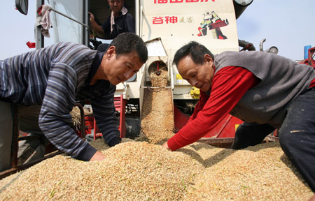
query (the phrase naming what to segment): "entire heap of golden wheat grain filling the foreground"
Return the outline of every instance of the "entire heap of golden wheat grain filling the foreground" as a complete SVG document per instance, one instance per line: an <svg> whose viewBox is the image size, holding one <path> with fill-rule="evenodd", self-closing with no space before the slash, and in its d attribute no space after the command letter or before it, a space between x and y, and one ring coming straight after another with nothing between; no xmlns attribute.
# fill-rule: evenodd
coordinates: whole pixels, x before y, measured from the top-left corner
<svg viewBox="0 0 315 201"><path fill-rule="evenodd" d="M194 143L167 151L147 142L83 162L55 156L0 180L0 200L308 200L313 193L278 143L243 150Z"/></svg>

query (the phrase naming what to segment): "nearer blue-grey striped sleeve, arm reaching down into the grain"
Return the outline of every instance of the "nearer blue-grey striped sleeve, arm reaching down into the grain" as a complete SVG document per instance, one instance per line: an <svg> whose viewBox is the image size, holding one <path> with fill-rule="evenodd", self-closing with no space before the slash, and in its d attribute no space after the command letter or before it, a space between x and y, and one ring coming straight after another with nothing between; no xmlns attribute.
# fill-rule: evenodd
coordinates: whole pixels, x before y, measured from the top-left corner
<svg viewBox="0 0 315 201"><path fill-rule="evenodd" d="M39 126L45 136L60 151L90 161L97 151L76 135L71 128L71 112L76 91L76 71L63 63L52 64L45 97L39 115Z"/></svg>

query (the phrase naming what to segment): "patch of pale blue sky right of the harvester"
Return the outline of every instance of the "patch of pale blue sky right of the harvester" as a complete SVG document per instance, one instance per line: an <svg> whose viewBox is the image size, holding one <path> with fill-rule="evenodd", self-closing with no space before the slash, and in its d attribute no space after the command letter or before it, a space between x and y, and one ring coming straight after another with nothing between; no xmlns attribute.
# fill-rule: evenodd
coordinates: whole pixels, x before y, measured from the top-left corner
<svg viewBox="0 0 315 201"><path fill-rule="evenodd" d="M304 46L315 47L314 0L253 0L237 19L239 39L246 40L259 50L271 46L279 55L293 60L304 59Z"/></svg>

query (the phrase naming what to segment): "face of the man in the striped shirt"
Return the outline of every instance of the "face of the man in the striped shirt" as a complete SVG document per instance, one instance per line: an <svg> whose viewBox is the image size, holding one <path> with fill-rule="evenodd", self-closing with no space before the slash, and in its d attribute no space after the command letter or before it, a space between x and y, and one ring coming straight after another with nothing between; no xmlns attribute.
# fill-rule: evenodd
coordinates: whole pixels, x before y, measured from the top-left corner
<svg viewBox="0 0 315 201"><path fill-rule="evenodd" d="M104 74L111 84L117 85L120 82L125 82L130 77L137 73L142 63L137 52L130 52L129 54L120 54L117 57L115 47L109 47L106 52L106 65L104 67Z"/></svg>

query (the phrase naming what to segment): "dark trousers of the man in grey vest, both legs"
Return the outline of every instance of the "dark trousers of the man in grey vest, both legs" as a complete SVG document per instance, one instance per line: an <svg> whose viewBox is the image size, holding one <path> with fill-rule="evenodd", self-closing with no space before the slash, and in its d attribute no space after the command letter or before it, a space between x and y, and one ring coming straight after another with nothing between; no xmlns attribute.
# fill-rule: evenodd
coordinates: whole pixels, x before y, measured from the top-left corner
<svg viewBox="0 0 315 201"><path fill-rule="evenodd" d="M241 124L235 133L232 149L259 144L274 131L268 124ZM315 192L315 89L300 94L288 106L279 129L279 142L302 177Z"/></svg>

